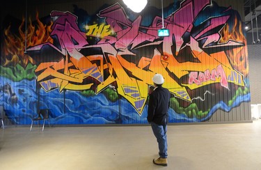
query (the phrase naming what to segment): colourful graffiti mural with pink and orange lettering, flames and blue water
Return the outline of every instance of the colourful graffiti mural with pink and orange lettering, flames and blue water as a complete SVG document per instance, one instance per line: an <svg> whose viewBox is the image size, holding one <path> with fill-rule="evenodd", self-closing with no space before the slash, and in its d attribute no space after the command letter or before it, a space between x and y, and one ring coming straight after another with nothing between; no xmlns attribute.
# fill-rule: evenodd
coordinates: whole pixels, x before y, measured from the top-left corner
<svg viewBox="0 0 261 170"><path fill-rule="evenodd" d="M45 23L37 14L27 35L24 19L17 33L8 25L1 82L12 84L19 96L5 102L10 94L2 91L1 100L9 110L21 110L13 111L23 115L13 121L27 124L47 107L56 124L146 123L156 73L171 91L173 123L208 121L218 109L229 112L250 101L237 11L210 0L182 1L166 11L164 22L160 14L148 20L152 14L132 16L115 3L87 16L88 23L76 13L51 11ZM170 36L157 36L162 27Z"/></svg>

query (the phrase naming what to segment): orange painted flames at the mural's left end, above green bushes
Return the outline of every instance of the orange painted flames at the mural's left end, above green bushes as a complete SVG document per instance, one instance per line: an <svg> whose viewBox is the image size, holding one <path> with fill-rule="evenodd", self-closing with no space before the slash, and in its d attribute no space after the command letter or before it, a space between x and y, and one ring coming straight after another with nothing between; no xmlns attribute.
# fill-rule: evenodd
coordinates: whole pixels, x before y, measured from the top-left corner
<svg viewBox="0 0 261 170"><path fill-rule="evenodd" d="M26 31L26 47L31 47L34 45L39 45L44 42L53 42L52 38L49 36L52 29L51 26L53 22L49 25L42 24L39 19L38 12L36 13L36 21L38 24L34 25L29 17L29 26ZM31 56L24 54L25 50L25 33L23 31L25 24L25 18L22 17L22 23L18 28L18 35L10 31L11 25L3 31L4 33L4 44L3 44L3 54L5 56L5 61L3 66L7 65L20 65L26 67L27 63L34 63Z"/></svg>

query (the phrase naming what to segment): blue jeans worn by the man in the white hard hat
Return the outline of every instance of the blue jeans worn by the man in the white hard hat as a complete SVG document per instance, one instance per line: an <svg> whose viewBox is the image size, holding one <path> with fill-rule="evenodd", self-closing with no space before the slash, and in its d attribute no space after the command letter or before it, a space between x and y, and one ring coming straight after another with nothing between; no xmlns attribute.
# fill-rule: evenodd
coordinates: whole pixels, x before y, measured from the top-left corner
<svg viewBox="0 0 261 170"><path fill-rule="evenodd" d="M159 145L159 156L162 158L168 157L168 144L167 144L167 125L157 125L151 122L152 131L157 139Z"/></svg>

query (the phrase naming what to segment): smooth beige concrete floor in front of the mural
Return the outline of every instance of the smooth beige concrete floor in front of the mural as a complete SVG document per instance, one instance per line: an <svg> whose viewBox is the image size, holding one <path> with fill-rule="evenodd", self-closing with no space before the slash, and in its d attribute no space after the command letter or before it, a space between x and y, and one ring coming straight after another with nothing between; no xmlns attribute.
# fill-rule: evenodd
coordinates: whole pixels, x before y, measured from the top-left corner
<svg viewBox="0 0 261 170"><path fill-rule="evenodd" d="M150 126L0 129L0 169L261 169L261 121L168 125L168 167Z"/></svg>

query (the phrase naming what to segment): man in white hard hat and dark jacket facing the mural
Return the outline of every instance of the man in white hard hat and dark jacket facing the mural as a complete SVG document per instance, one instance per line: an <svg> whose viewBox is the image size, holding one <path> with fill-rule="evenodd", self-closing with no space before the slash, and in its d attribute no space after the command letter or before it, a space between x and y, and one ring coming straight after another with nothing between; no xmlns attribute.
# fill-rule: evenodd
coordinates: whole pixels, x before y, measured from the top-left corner
<svg viewBox="0 0 261 170"><path fill-rule="evenodd" d="M159 145L159 158L154 159L153 163L161 166L168 166L167 161L167 123L168 123L168 107L171 98L171 93L167 88L162 87L164 78L160 74L156 74L152 81L156 86L150 94L148 105L147 120L152 127Z"/></svg>

